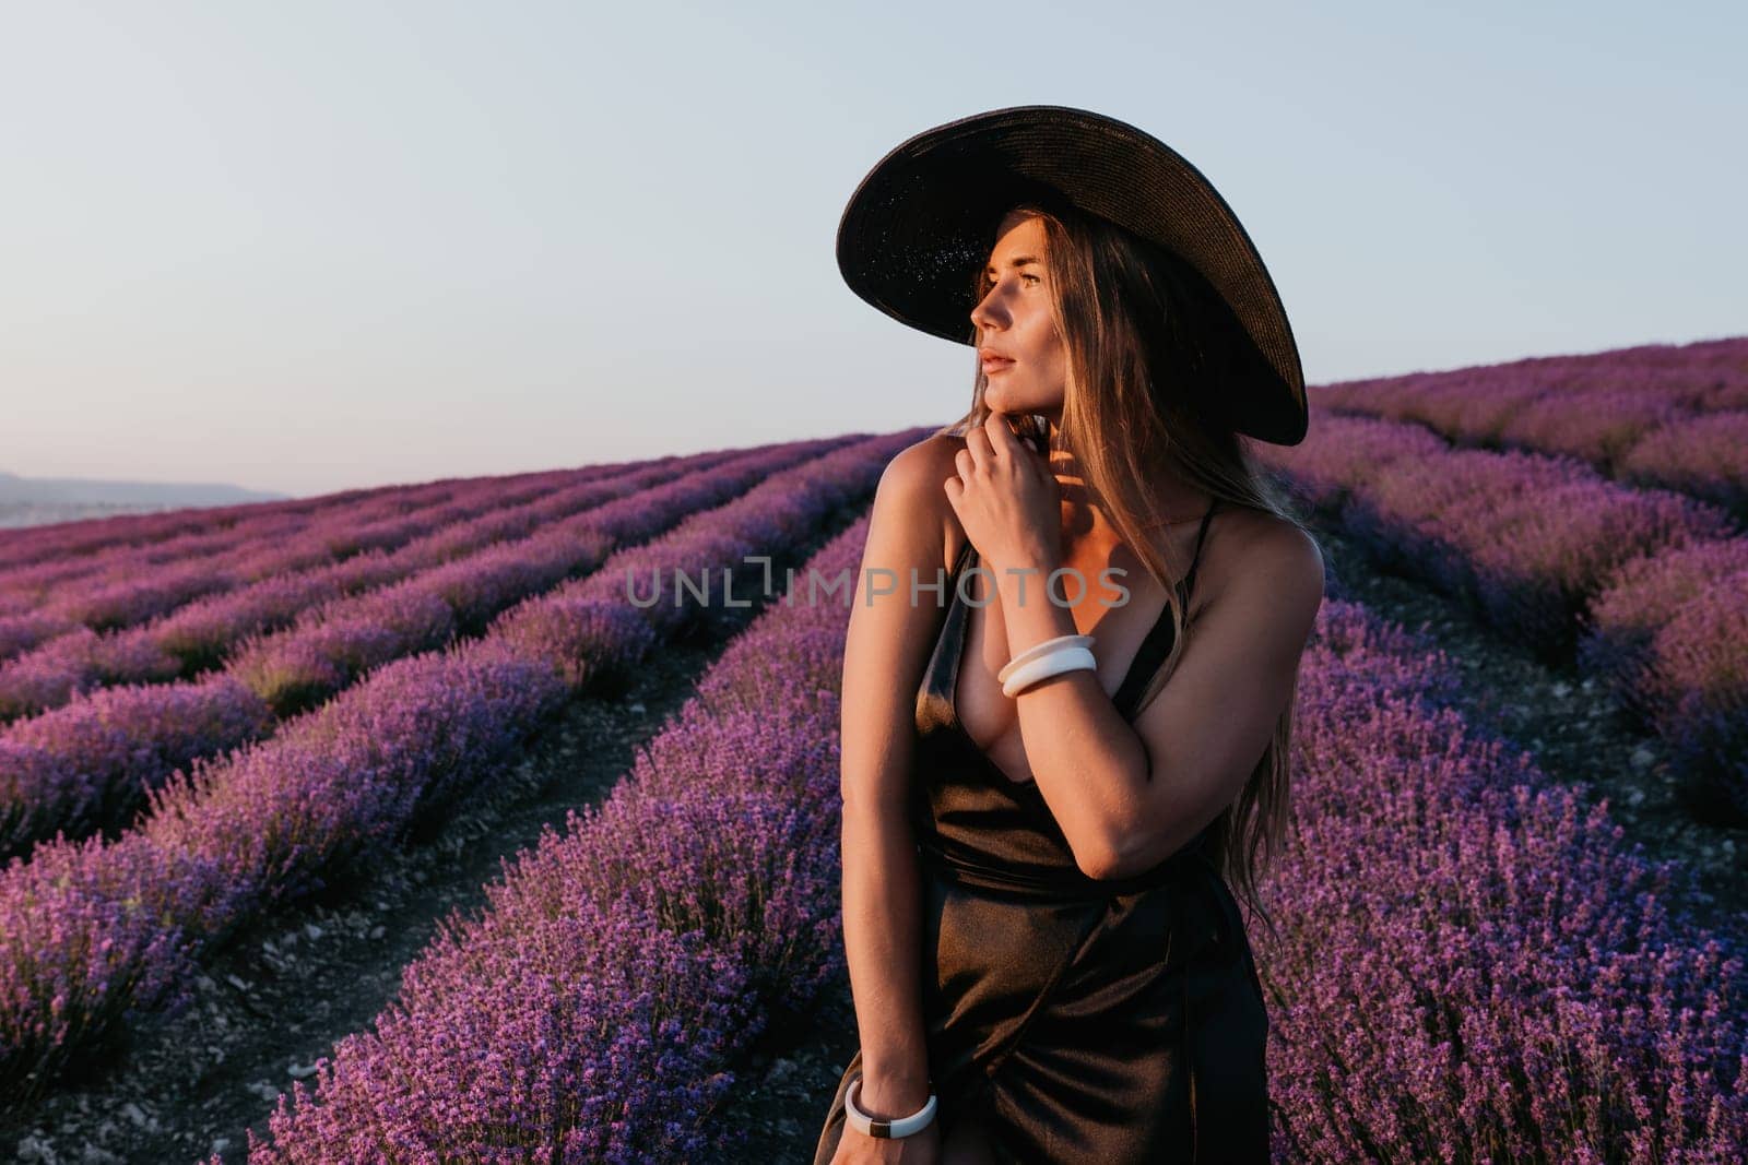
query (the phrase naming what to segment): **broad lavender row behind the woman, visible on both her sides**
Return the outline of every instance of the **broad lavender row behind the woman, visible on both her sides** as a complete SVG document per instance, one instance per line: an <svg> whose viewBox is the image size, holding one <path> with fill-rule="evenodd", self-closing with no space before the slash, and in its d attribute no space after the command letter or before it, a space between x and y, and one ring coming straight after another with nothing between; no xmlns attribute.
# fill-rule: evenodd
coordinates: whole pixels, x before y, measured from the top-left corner
<svg viewBox="0 0 1748 1165"><path fill-rule="evenodd" d="M855 571L865 531L809 573ZM612 796L505 863L280 1097L252 1165L732 1160L711 1114L736 1057L844 973L844 622L766 611ZM1299 833L1267 879L1285 941L1259 943L1278 1158L1739 1160L1741 936L1671 915L1676 865L1474 734L1454 671L1356 604L1318 618Z"/></svg>

